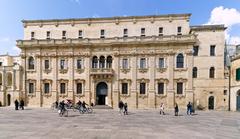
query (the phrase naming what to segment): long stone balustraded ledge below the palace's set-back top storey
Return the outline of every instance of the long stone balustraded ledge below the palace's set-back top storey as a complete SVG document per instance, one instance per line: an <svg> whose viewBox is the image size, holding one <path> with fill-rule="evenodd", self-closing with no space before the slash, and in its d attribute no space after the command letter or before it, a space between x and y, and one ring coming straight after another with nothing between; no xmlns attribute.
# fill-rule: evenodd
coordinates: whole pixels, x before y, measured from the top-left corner
<svg viewBox="0 0 240 139"><path fill-rule="evenodd" d="M84 38L84 39L50 39L50 40L17 40L19 48L24 47L49 47L59 45L113 45L113 44L169 44L169 43L191 43L194 44L197 38L194 34L187 35L166 35L166 36L133 36L114 38Z"/></svg>

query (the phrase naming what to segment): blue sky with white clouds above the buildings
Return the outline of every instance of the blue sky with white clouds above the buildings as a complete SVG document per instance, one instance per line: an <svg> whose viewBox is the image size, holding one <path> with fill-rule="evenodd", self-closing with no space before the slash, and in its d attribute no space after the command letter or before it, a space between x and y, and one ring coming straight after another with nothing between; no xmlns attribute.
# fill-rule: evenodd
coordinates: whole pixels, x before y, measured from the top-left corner
<svg viewBox="0 0 240 139"><path fill-rule="evenodd" d="M62 19L192 13L190 24L225 24L240 43L240 0L0 0L0 54L19 54L23 19Z"/></svg>

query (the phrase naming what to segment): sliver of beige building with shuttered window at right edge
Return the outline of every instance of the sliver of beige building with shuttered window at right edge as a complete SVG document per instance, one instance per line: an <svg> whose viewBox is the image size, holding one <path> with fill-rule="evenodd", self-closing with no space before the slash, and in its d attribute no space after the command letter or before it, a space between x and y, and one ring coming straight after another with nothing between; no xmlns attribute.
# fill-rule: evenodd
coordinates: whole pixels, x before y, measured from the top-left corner
<svg viewBox="0 0 240 139"><path fill-rule="evenodd" d="M236 53L231 57L231 89L230 108L232 111L240 111L240 45L236 46Z"/></svg>

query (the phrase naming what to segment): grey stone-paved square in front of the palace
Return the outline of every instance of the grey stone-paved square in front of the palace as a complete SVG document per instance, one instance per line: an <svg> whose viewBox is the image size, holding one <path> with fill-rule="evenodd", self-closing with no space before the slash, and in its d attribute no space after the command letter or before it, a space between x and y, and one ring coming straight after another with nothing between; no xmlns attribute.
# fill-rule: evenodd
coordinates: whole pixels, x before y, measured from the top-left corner
<svg viewBox="0 0 240 139"><path fill-rule="evenodd" d="M57 111L27 108L15 111L0 108L0 138L16 139L231 139L240 138L240 113L198 111L173 116L169 111L134 110L127 116L117 110L94 110L93 114L69 111L59 117Z"/></svg>

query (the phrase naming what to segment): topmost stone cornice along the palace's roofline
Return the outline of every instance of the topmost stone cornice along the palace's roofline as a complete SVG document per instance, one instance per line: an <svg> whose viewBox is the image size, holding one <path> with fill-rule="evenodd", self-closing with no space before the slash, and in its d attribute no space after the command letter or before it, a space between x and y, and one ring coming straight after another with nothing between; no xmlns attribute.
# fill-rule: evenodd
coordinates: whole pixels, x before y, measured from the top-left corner
<svg viewBox="0 0 240 139"><path fill-rule="evenodd" d="M49 20L22 20L23 26L39 26L44 25L58 25L70 24L74 26L75 24L88 24L93 23L115 23L120 22L133 22L138 21L150 21L153 23L155 20L187 20L189 21L191 14L166 14L166 15L147 15L147 16L118 16L118 17L103 17L103 18L70 18L70 19L49 19Z"/></svg>

